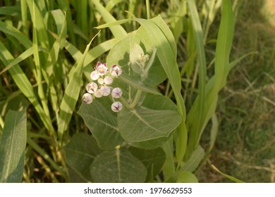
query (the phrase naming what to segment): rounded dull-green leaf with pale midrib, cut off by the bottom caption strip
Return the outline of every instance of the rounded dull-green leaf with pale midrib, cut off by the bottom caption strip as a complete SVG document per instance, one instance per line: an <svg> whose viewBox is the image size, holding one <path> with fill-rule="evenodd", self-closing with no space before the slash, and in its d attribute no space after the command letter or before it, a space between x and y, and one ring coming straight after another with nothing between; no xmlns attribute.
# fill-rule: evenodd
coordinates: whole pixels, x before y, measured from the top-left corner
<svg viewBox="0 0 275 197"><path fill-rule="evenodd" d="M141 183L147 174L146 167L125 148L98 155L90 172L99 183Z"/></svg>

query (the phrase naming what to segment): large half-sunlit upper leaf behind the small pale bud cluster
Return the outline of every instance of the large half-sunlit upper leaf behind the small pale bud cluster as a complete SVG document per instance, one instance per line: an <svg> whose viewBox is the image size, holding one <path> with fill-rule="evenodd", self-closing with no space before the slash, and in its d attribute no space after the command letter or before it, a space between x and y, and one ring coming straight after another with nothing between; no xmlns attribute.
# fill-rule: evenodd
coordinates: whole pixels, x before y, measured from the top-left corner
<svg viewBox="0 0 275 197"><path fill-rule="evenodd" d="M144 49L142 49L141 46ZM164 69L161 67L159 59L154 58L154 63L152 63L152 67L147 70L147 76L145 77L144 82L142 82L142 79L138 74L140 74L142 69L144 70L145 68L142 68L142 65L138 65L135 61L143 51L151 56L151 58L154 55L154 45L145 29L140 27L137 32L128 34L127 37L121 39L112 47L107 57L107 65L109 67L114 64L121 65L121 68L123 69L123 76L120 77L121 80L137 89L146 91L144 89L145 85L147 85L148 89L149 86L158 85L166 79L166 74ZM135 79L134 82L132 82L133 79Z"/></svg>

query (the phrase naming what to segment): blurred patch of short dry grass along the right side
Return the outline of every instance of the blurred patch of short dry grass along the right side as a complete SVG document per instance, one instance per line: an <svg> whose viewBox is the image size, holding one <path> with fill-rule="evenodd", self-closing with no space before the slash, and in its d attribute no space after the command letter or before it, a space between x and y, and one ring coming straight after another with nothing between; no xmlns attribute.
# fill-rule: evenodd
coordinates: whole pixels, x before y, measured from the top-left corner
<svg viewBox="0 0 275 197"><path fill-rule="evenodd" d="M263 1L243 1L238 9L231 56L257 53L228 77L218 106L219 134L209 159L245 182L275 182L275 29L260 8L265 8ZM209 166L204 170L202 182L228 182Z"/></svg>

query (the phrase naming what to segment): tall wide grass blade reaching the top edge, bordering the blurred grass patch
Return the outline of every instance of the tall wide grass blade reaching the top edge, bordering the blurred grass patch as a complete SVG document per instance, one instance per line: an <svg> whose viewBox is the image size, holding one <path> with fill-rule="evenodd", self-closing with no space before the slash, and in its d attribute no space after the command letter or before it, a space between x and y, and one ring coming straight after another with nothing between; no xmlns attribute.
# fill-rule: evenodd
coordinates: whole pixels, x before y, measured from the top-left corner
<svg viewBox="0 0 275 197"><path fill-rule="evenodd" d="M191 0L190 0L191 1ZM200 136L207 122L216 109L217 96L226 83L228 70L230 70L229 54L233 42L233 11L230 0L224 0L221 12L221 24L216 44L215 75L206 85L207 96L203 100L204 111L200 127L197 123L197 113L200 112L200 98L196 98L190 112L188 113L187 125L190 130L190 142L188 144L188 159L200 142ZM200 95L199 95L200 96ZM195 132L194 129L195 128Z"/></svg>

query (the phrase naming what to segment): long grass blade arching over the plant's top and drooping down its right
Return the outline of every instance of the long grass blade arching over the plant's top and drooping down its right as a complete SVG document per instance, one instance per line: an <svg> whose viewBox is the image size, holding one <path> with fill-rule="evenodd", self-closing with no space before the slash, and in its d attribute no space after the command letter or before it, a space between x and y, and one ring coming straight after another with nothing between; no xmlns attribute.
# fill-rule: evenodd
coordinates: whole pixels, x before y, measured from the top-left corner
<svg viewBox="0 0 275 197"><path fill-rule="evenodd" d="M181 125L178 128L178 132L180 132L180 134L178 135L179 138L176 146L176 156L178 163L180 163L183 155L185 154L187 130L185 126L185 103L183 101L183 97L181 96L181 75L176 63L176 42L173 38L173 34L169 30L169 27L160 15L152 20L137 18L135 21L144 27L149 35L149 39L152 41L152 45L157 49L157 57L162 68L164 68L164 71L166 72L166 76L169 79L173 89L173 94L176 98L178 112L182 117Z"/></svg>

